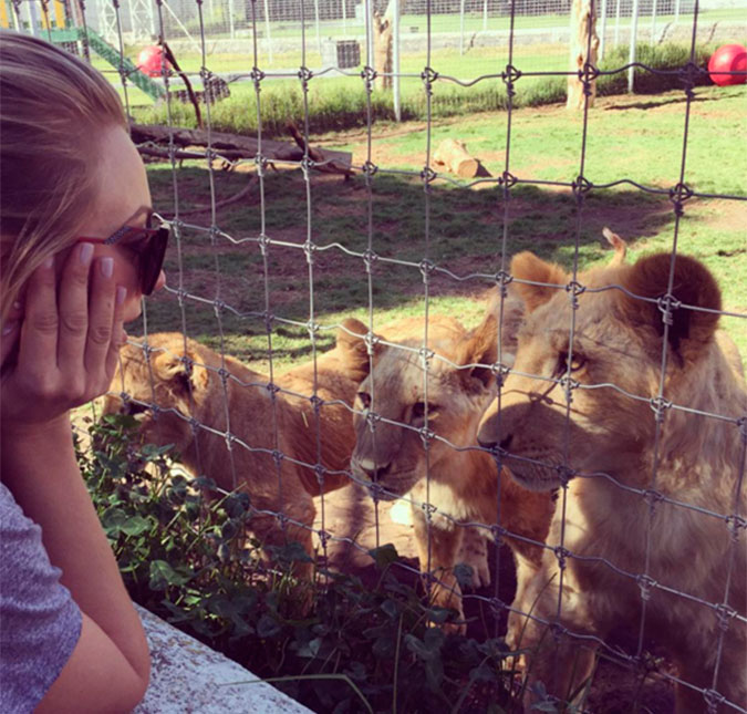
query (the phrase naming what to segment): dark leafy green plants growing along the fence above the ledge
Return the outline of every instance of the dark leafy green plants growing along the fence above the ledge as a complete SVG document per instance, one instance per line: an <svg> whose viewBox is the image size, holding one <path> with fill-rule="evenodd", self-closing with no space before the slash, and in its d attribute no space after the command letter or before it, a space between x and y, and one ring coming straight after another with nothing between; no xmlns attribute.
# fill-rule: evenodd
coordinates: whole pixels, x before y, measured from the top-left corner
<svg viewBox="0 0 747 714"><path fill-rule="evenodd" d="M477 642L428 627L428 608L396 577L397 552L371 552L378 583L320 571L312 611L292 576L298 544L260 562L246 494L208 500L207 478L173 475L169 447L139 446L128 416L90 427L79 462L133 599L318 712L500 711L509 673L502 640ZM492 707L492 708L491 708ZM470 710L471 711L471 710Z"/></svg>

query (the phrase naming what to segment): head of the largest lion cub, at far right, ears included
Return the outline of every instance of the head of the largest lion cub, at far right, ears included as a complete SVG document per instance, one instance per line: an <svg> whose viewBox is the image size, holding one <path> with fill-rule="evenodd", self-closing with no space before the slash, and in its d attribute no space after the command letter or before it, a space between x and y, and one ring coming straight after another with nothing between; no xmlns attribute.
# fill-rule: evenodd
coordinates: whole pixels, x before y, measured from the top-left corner
<svg viewBox="0 0 747 714"><path fill-rule="evenodd" d="M718 309L718 289L695 260L679 257L674 294L682 303ZM531 253L520 253L512 275L532 283L564 286L570 277ZM567 290L523 283L528 317L519 334L513 370L478 434L484 445L509 455L521 485L557 487L572 470L615 473L651 447L663 350L662 312L670 256L579 276L573 341ZM619 288L604 289L608 286ZM640 296L634 298L632 296ZM668 330L665 397L687 404L686 374L705 353L717 315L681 308ZM570 401L569 401L570 397ZM568 473L568 468L571 473Z"/></svg>

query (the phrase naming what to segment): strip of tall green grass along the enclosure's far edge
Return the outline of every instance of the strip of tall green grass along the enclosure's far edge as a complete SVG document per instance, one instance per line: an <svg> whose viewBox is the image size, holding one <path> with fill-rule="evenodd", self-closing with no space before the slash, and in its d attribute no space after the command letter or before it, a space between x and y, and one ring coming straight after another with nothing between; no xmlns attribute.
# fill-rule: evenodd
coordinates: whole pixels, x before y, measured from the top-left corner
<svg viewBox="0 0 747 714"><path fill-rule="evenodd" d="M694 64L702 71L693 73L695 86L710 84L705 66L714 48L697 45ZM641 43L636 61L647 69L635 69L635 92L651 94L684 87L683 68L689 63L689 48L682 44L665 43L651 45ZM629 50L618 46L611 50L600 63L603 74L599 79L600 95L624 94L627 91ZM457 61L457 60L455 60ZM501 60L490 73L504 69ZM519 69L522 63L518 62ZM527 66L532 69L531 63ZM557 71L557 68L551 68ZM655 72L650 72L654 70ZM562 71L562 69L560 69ZM418 70L419 72L419 70ZM521 76L516 82L515 108L543 106L566 101L564 76ZM228 100L210 110L212 128L222 132L256 133L258 130L257 95L252 87L232 87ZM298 81L266 83L260 94L262 133L266 137L286 136L289 121L299 125L304 122L304 96ZM391 92L374 91L369 100L363 83L354 84L339 79L312 81L307 97L309 132L322 134L367 125L369 112L372 123L393 122L394 104ZM429 106L429 108L428 108ZM423 84L404 81L401 113L403 121L425 121L428 112L432 118L464 116L476 112L505 111L508 107L506 84L500 79L484 76L471 86L463 86L449 77L436 80L433 95L428 97ZM170 107L172 121L179 126L195 126L194 110L189 105L174 102ZM167 123L166 107L138 107L136 118L144 123Z"/></svg>

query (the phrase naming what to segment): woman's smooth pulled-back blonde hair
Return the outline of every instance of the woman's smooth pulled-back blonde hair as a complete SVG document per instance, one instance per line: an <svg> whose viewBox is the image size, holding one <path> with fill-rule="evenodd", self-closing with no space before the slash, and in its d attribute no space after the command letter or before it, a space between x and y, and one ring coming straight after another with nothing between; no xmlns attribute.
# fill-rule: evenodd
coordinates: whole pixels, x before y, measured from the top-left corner
<svg viewBox="0 0 747 714"><path fill-rule="evenodd" d="M97 198L96 137L127 128L104 76L48 42L0 32L0 313L81 235Z"/></svg>

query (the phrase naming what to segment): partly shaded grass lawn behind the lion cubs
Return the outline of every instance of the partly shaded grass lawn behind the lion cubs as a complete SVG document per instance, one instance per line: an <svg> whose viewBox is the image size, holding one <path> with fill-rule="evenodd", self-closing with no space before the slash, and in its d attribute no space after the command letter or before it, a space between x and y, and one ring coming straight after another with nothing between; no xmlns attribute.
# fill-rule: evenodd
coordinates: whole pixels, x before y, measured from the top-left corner
<svg viewBox="0 0 747 714"><path fill-rule="evenodd" d="M745 87L696 91L684 174L695 192L747 198L747 155L738 149L747 139L746 96ZM603 226L630 241L632 259L672 249L675 215L665 192L679 180L684 110L682 93L672 92L606 97L590 112L584 176L595 186L630 179L663 193L626 183L592 189L580 215L581 268L609 260ZM505 166L506 131L505 113L481 114L434 122L430 141L434 147L449 136L466 141L497 175ZM372 161L380 170L371 196L360 175L345 182L312 174L307 186L300 170L270 170L262 199L255 187L245 200L218 211L220 231L212 240L206 230L209 213L184 217L180 250L169 248L167 272L169 284L188 294L181 306L168 292L148 300L148 330L184 325L190 337L212 346L222 340L229 353L267 369L267 309L278 318L271 333L272 363L283 369L312 352L305 327L310 319L320 325L318 346L326 349L342 318L367 319L370 299L376 324L424 314L418 263L426 256L455 276L435 275L428 309L467 323L479 320L484 293L494 284L486 276L500 269L504 253L510 258L530 249L570 268L579 216L568 188L519 184L506 210L495 185L469 187L438 179L426 203L417 176L425 163L426 137L424 123L374 128ZM563 107L516 111L510 170L520 179L571 182L581 170L581 142L580 116ZM328 134L314 137L314 143L353 152L355 165L366 158L365 132ZM216 199L238 193L252 170L252 165L216 170ZM175 177L169 166L151 164L148 174L155 206L165 214L174 211L175 186L180 210L209 204L210 173L204 163L185 162ZM272 241L264 257L257 240L262 225ZM302 250L309 235L318 246L311 266ZM678 251L702 259L716 275L724 309L746 315L747 203L689 199L676 239ZM381 257L370 282L361 257L369 241ZM724 318L723 324L747 355L747 319Z"/></svg>

